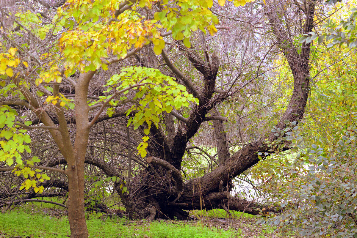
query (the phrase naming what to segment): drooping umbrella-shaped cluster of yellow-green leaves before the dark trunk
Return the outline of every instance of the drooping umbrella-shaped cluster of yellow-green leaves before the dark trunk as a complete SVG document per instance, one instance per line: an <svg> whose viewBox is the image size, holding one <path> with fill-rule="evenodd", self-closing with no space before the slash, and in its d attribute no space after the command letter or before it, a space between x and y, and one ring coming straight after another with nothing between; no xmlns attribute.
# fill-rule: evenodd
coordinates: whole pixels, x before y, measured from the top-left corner
<svg viewBox="0 0 357 238"><path fill-rule="evenodd" d="M188 107L190 102L195 102L198 105L198 99L186 91L186 87L178 84L175 78L162 74L158 69L146 67L125 67L121 69L120 74L114 74L107 84L108 89L105 92L110 92L114 89L115 94L108 97L102 97L101 100L112 98L119 94L119 100L111 100L111 105L121 105L124 102L136 101L127 110L126 115L129 116L132 112L136 112L133 117L128 120L127 126L134 125L136 130L139 126L147 125L144 133L149 135L151 124L159 127L160 115L162 112L170 113L172 109L180 109ZM129 89L135 90L135 96L132 98L126 97ZM107 109L109 116L113 115L114 108ZM137 146L137 150L141 157L146 156L147 140L149 136L144 136L143 142Z"/></svg>

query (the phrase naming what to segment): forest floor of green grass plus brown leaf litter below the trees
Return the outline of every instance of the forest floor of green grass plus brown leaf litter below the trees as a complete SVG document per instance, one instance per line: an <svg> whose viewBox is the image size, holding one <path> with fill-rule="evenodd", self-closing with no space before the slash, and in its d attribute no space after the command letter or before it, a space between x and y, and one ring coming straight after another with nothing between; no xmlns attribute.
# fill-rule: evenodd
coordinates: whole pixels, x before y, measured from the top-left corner
<svg viewBox="0 0 357 238"><path fill-rule="evenodd" d="M223 210L222 210L223 211ZM221 211L197 211L192 221L130 221L117 216L87 216L90 238L281 238L276 227L256 224L250 215L229 218ZM223 211L224 212L224 211ZM223 214L224 215L224 214ZM193 215L194 216L194 215ZM0 238L66 238L70 230L66 213L33 205L0 213Z"/></svg>

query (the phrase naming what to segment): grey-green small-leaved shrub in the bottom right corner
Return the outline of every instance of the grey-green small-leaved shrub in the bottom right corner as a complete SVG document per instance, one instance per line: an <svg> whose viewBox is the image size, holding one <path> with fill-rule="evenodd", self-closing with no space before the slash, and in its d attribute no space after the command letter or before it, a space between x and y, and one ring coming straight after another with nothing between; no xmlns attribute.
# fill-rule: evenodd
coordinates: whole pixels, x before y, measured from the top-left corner
<svg viewBox="0 0 357 238"><path fill-rule="evenodd" d="M300 156L278 169L284 178L277 183L274 199L282 209L270 214L268 224L283 231L292 228L308 237L356 237L357 148L355 133L346 133L333 157L324 157L322 148L300 148ZM277 179L279 179L277 181ZM273 192L270 188L270 192Z"/></svg>

